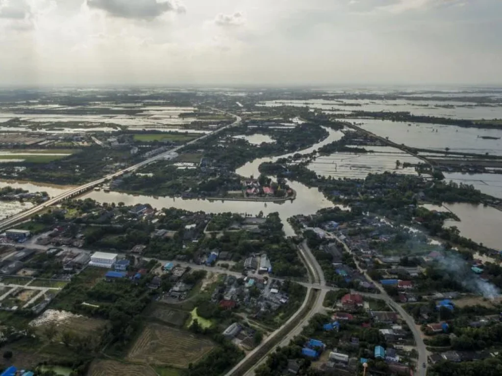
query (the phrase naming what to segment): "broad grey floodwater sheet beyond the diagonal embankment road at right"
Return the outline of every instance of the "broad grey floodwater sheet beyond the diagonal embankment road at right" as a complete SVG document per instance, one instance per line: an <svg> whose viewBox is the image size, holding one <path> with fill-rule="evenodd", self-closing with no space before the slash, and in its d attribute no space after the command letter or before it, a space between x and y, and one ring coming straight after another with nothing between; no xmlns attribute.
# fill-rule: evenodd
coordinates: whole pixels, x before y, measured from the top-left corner
<svg viewBox="0 0 502 376"><path fill-rule="evenodd" d="M355 122L378 136L389 137L389 140L406 146L444 151L502 155L502 130L462 128L454 125L424 124L375 120L347 119ZM361 124L362 123L362 124ZM479 136L479 137L478 137ZM499 139L483 139L481 136L500 137Z"/></svg>

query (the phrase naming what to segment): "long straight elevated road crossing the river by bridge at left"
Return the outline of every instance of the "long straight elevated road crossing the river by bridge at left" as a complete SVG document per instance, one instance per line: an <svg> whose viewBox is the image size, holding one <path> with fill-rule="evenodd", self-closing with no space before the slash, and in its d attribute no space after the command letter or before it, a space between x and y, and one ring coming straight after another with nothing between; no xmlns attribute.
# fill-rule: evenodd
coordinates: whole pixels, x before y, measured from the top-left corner
<svg viewBox="0 0 502 376"><path fill-rule="evenodd" d="M212 109L215 110L215 111L224 112L222 110L218 110L218 109L215 109L215 108L212 108ZM232 127L232 126L240 124L241 118L239 116L233 115L233 114L229 114L229 115L235 117L235 121L233 123L225 125L224 127L216 129L216 130L214 130L214 131L212 131L210 133L204 134L204 135L202 135L200 137L197 137L197 138L195 138L195 139L193 139L191 141L188 141L188 142L184 143L183 145L176 146L176 147L174 147L174 148L172 148L170 150L167 150L167 151L165 151L163 153L160 153L160 154L155 155L155 156L153 156L151 158L145 159L144 161L142 161L140 163L137 163L135 165L129 166L129 167L124 168L122 170L119 170L119 171L116 171L116 172L111 173L109 175L106 175L106 176L104 176L104 177L102 177L100 179L97 179L97 180L85 183L83 185L80 185L80 186L78 186L76 188L73 188L73 189L71 189L69 191L66 191L65 193L63 193L63 194L61 194L59 196L53 197L52 199L46 201L45 203L43 203L41 205L38 205L38 206L33 207L33 208L29 209L29 210L26 210L24 212L21 212L19 214L16 214L14 216L6 218L6 219L0 221L0 231L1 230L6 230L6 229L10 228L12 225L14 225L17 222L20 222L20 221L28 219L30 216L34 215L35 213L41 211L42 209L44 209L44 208L46 208L48 206L58 204L59 202L61 202L63 200L66 200L68 198L71 198L73 196L81 194L83 192L86 192L86 191L92 189L93 187L95 187L96 185L102 184L102 183L106 182L109 179L121 176L124 173L135 171L135 170L137 170L137 169L139 169L141 167L146 166L149 163L152 163L152 162L155 162L157 160L162 159L164 156L169 155L172 152L177 152L178 150L182 149L185 146L191 145L193 143L196 143L198 141L203 140L204 138L207 138L207 137L212 136L212 135L214 135L216 133L219 133L219 132L221 132L221 131L229 128L229 127Z"/></svg>

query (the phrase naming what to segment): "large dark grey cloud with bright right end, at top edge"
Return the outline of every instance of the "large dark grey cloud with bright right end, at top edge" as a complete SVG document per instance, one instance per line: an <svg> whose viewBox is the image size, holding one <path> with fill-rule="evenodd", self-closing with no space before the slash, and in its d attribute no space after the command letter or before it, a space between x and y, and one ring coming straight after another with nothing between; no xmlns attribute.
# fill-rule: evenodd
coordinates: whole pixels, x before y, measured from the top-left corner
<svg viewBox="0 0 502 376"><path fill-rule="evenodd" d="M169 0L87 0L87 5L113 17L129 19L148 20L166 12L185 12L185 7Z"/></svg>

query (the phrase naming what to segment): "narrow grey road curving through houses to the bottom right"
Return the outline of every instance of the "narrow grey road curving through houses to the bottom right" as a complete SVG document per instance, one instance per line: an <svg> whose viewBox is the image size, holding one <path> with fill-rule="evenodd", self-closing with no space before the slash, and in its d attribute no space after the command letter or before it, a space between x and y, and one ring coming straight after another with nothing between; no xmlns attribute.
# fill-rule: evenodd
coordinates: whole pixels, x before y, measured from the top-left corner
<svg viewBox="0 0 502 376"><path fill-rule="evenodd" d="M332 239L335 239L338 243L340 243L345 251L348 253L352 254L352 250L347 246L347 243L342 241L340 238L338 238L336 235L331 234L330 237ZM403 307L401 307L400 304L394 301L387 291L377 282L373 281L373 279L359 266L359 263L354 257L354 262L355 265L357 266L357 269L359 270L360 273L362 273L368 281L372 282L376 288L380 290L380 299L383 299L386 301L386 303L392 307L395 311L397 311L401 317L406 321L406 324L409 326L410 330L413 333L413 337L415 338L415 343L417 346L417 351L418 351L418 361L417 361L417 374L420 376L426 376L427 374L427 348L425 346L424 340L422 339L422 333L420 332L420 329L416 326L415 320L413 317L411 317L408 312L406 312ZM365 294L363 294L365 295ZM378 295L377 295L378 296ZM425 367L422 366L422 364L425 363Z"/></svg>

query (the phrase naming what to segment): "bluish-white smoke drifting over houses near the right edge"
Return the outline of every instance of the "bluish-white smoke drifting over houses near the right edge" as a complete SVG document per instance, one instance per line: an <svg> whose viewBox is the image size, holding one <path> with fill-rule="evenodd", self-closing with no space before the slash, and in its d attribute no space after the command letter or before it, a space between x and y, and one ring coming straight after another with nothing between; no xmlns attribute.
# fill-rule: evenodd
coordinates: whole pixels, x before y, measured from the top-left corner
<svg viewBox="0 0 502 376"><path fill-rule="evenodd" d="M450 272L449 274L467 290L488 299L495 299L500 295L498 288L483 281L459 254L442 252L436 261L442 269Z"/></svg>

